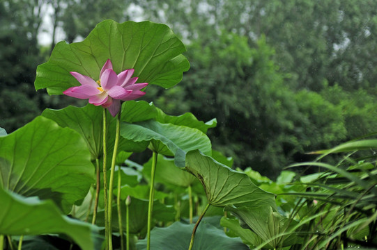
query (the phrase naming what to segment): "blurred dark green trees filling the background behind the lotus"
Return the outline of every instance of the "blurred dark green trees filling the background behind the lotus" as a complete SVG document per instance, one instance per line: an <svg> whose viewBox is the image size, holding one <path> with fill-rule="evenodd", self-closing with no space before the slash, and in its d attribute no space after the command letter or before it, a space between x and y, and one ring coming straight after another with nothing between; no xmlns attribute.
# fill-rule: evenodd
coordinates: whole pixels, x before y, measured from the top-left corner
<svg viewBox="0 0 377 250"><path fill-rule="evenodd" d="M377 130L377 1L0 3L0 126L8 132L43 108L74 101L36 94L36 66L54 46L56 29L74 42L103 19L149 19L180 35L190 71L169 90L149 86L145 99L171 115L216 117L213 147L238 167L274 178L289 163L309 160L307 151ZM45 15L53 42L41 45Z"/></svg>

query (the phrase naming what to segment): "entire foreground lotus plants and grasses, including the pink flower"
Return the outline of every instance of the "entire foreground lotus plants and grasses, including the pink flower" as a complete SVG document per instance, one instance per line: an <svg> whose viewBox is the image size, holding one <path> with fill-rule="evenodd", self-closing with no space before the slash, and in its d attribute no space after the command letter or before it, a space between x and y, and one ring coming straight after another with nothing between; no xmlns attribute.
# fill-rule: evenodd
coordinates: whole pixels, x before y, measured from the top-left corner
<svg viewBox="0 0 377 250"><path fill-rule="evenodd" d="M216 119L136 100L181 81L183 52L152 22L106 20L82 42L56 44L36 90L89 103L0 129L0 249L377 247L376 157L351 157L377 140L291 166L314 166L309 176L284 171L274 182L234 170L206 135ZM345 151L337 165L324 162ZM128 159L139 152L151 155L144 165Z"/></svg>

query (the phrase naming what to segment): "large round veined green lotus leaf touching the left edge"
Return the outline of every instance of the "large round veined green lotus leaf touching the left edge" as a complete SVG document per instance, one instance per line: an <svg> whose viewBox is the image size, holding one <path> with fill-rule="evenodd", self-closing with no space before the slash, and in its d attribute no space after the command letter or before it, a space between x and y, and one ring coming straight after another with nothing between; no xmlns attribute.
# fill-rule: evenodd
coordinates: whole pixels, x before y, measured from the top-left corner
<svg viewBox="0 0 377 250"><path fill-rule="evenodd" d="M82 137L36 117L0 137L0 185L24 197L52 199L69 213L94 182L91 153Z"/></svg>

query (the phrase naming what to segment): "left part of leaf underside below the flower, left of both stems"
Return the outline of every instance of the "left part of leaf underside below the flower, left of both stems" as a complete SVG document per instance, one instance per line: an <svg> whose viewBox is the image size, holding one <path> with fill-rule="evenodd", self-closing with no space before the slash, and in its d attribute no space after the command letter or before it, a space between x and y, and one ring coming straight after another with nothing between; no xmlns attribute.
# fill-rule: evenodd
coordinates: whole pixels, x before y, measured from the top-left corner
<svg viewBox="0 0 377 250"><path fill-rule="evenodd" d="M91 151L91 159L100 158L102 153L102 107L87 104L83 108L68 106L61 110L46 109L42 115L59 124L77 131L84 138Z"/></svg>

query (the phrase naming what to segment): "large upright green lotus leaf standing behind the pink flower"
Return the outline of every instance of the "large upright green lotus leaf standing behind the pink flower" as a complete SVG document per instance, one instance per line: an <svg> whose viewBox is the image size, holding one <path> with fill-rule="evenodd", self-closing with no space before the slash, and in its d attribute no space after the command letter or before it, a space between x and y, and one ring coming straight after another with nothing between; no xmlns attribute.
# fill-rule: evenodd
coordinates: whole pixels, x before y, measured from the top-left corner
<svg viewBox="0 0 377 250"><path fill-rule="evenodd" d="M171 88L190 68L185 46L164 24L152 22L100 22L82 42L56 44L47 63L38 66L36 90L47 88L49 94L62 94L79 85L69 72L79 72L98 80L107 59L119 74L134 69L137 82Z"/></svg>

